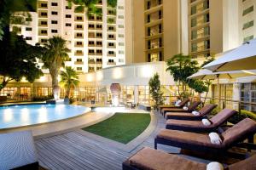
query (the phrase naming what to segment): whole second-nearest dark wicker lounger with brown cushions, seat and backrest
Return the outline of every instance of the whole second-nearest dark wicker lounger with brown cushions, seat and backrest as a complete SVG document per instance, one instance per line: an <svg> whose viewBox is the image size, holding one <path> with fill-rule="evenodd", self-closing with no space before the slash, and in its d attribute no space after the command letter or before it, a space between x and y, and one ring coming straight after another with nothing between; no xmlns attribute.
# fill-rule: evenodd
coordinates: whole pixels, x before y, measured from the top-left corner
<svg viewBox="0 0 256 170"><path fill-rule="evenodd" d="M245 146L239 144L247 138L251 139L254 133L256 133L256 122L249 118L238 122L221 133L220 138L223 140L221 144L212 144L208 134L163 129L160 130L154 139L154 149L157 149L157 144L166 144L187 150L224 154L235 145L255 149L254 144L249 144L253 143L251 140L247 144L244 143Z"/></svg>

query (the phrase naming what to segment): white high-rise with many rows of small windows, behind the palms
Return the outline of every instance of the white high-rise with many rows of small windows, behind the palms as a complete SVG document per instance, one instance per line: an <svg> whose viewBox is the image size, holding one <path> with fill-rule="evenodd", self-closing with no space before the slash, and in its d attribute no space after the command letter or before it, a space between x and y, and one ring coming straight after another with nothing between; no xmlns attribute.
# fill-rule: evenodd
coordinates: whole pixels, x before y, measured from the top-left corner
<svg viewBox="0 0 256 170"><path fill-rule="evenodd" d="M53 36L64 38L70 49L66 65L79 72L125 65L125 0L118 0L116 8L108 6L107 0L99 1L96 7L102 15L88 15L77 7L63 0L40 0L38 12L12 29L31 44L44 44Z"/></svg>

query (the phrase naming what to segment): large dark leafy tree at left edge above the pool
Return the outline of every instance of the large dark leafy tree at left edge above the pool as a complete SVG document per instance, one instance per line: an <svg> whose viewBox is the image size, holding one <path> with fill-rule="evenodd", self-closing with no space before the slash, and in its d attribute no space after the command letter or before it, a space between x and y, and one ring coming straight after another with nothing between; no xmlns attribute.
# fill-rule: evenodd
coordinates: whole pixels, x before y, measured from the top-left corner
<svg viewBox="0 0 256 170"><path fill-rule="evenodd" d="M15 33L4 35L0 41L0 90L10 81L20 82L26 77L28 82L43 76L38 66L37 58L42 55L42 48L26 43L26 40Z"/></svg>

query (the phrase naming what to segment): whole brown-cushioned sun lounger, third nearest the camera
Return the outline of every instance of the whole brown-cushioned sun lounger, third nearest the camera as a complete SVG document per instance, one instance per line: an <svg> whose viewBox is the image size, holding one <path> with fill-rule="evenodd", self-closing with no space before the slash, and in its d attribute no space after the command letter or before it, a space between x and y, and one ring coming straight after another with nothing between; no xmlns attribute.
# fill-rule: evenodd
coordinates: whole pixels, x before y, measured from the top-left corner
<svg viewBox="0 0 256 170"><path fill-rule="evenodd" d="M217 115L209 119L210 125L204 125L202 121L184 121L168 119L166 121L166 129L172 130L182 130L187 132L202 133L202 132L212 132L216 131L218 127L223 125L231 116L234 116L237 111L230 109L224 109L220 111Z"/></svg>

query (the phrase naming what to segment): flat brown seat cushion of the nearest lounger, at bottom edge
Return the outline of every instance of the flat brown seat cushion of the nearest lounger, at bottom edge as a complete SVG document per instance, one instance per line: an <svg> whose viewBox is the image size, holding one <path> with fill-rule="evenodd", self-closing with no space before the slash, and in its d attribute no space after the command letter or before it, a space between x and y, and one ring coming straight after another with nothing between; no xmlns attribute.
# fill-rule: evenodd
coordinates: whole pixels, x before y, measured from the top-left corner
<svg viewBox="0 0 256 170"><path fill-rule="evenodd" d="M206 164L148 147L131 156L129 162L132 167L143 170L205 170L207 168Z"/></svg>

